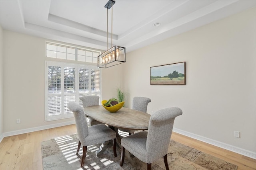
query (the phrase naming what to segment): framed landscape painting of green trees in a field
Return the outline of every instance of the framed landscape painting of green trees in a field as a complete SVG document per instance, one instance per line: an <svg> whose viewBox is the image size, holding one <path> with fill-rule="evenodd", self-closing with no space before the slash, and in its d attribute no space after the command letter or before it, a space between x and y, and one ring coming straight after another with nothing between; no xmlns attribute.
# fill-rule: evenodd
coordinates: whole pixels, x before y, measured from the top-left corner
<svg viewBox="0 0 256 170"><path fill-rule="evenodd" d="M150 85L185 85L186 62L150 67Z"/></svg>

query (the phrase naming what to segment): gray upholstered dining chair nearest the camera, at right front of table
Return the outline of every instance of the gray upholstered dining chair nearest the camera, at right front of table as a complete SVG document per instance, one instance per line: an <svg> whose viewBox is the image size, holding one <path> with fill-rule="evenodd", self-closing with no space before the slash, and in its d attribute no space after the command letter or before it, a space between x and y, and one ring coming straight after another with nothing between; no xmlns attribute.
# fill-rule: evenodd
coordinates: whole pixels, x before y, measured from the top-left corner
<svg viewBox="0 0 256 170"><path fill-rule="evenodd" d="M151 170L151 163L164 157L166 170L169 170L167 152L172 135L175 117L182 115L178 107L161 109L150 117L148 132L141 131L121 139L120 166L124 164L125 149L142 162L147 163L147 170Z"/></svg>

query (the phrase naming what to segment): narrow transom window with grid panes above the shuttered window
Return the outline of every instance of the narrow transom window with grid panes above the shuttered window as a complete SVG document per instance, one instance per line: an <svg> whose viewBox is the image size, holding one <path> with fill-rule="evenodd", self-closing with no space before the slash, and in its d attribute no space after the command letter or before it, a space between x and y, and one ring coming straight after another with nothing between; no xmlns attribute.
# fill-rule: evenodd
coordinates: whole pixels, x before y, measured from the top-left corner
<svg viewBox="0 0 256 170"><path fill-rule="evenodd" d="M55 43L46 43L46 57L88 63L98 63L100 51L70 47Z"/></svg>

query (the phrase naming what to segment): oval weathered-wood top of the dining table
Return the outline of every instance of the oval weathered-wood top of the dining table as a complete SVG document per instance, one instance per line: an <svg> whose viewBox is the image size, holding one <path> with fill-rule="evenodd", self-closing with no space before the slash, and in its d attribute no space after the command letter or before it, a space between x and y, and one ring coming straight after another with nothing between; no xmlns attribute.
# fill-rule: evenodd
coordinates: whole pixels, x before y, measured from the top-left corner
<svg viewBox="0 0 256 170"><path fill-rule="evenodd" d="M101 105L84 107L84 112L96 121L131 130L147 130L151 116L148 113L126 107L122 107L117 112L111 113Z"/></svg>

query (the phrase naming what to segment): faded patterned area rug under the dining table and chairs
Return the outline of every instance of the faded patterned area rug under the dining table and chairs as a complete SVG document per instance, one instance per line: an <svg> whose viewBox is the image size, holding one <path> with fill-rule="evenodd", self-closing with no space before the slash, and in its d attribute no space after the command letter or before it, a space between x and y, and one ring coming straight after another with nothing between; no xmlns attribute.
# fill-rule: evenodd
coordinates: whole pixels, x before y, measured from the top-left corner
<svg viewBox="0 0 256 170"><path fill-rule="evenodd" d="M120 150L114 157L112 147L99 156L95 155L100 144L87 147L84 167L81 168L82 148L78 156L77 134L67 135L41 143L44 170L146 170L146 163L136 157L132 160L125 158L124 165L119 166ZM171 140L168 149L168 165L174 170L237 170L237 165L220 158L206 154L194 148ZM165 170L164 159L152 163L152 170Z"/></svg>

